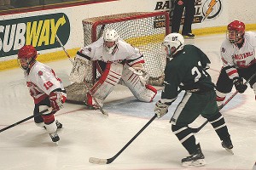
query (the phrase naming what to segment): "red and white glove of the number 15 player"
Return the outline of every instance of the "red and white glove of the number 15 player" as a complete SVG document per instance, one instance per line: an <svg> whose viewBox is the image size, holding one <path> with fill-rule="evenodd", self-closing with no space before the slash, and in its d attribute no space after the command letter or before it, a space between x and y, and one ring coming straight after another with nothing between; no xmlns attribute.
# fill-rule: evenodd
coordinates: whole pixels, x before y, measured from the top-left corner
<svg viewBox="0 0 256 170"><path fill-rule="evenodd" d="M52 111L59 111L64 107L64 103L67 99L67 94L63 92L51 92L49 94L49 101Z"/></svg>

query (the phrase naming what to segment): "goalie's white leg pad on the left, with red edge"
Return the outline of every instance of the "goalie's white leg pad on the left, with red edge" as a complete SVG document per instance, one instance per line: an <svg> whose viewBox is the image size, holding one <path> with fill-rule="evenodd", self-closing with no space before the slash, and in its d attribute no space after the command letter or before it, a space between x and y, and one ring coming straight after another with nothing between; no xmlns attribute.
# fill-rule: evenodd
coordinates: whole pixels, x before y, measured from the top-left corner
<svg viewBox="0 0 256 170"><path fill-rule="evenodd" d="M107 98L108 94L113 91L115 85L118 84L122 77L123 65L119 63L108 63L102 73L100 79L90 89L90 93L97 99L100 105ZM90 94L87 94L87 105L96 105Z"/></svg>

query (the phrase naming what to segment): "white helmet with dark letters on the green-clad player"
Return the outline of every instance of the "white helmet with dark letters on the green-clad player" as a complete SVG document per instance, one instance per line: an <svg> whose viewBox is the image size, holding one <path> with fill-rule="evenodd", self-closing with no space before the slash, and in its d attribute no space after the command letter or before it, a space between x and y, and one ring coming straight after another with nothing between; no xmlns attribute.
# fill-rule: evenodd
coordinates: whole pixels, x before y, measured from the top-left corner
<svg viewBox="0 0 256 170"><path fill-rule="evenodd" d="M168 34L162 42L162 51L167 57L173 58L174 54L184 47L184 38L179 33Z"/></svg>

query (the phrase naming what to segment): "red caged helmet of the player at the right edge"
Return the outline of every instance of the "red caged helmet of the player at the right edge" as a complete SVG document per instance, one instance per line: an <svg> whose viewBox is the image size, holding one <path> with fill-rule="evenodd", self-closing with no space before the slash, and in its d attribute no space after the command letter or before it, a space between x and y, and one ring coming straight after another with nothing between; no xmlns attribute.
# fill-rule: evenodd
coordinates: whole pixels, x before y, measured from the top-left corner
<svg viewBox="0 0 256 170"><path fill-rule="evenodd" d="M234 20L228 25L227 39L231 43L236 43L243 38L245 25L239 20Z"/></svg>

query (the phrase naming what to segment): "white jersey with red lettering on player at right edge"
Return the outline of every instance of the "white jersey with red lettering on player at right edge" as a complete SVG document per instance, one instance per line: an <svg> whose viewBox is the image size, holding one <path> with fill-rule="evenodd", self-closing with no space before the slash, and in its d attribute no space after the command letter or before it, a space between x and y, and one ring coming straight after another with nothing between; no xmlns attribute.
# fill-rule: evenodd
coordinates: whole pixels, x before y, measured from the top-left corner
<svg viewBox="0 0 256 170"><path fill-rule="evenodd" d="M256 33L247 31L244 34L244 42L241 48L235 43L225 40L220 48L221 59L230 79L238 77L236 68L247 68L253 65L255 60Z"/></svg>

